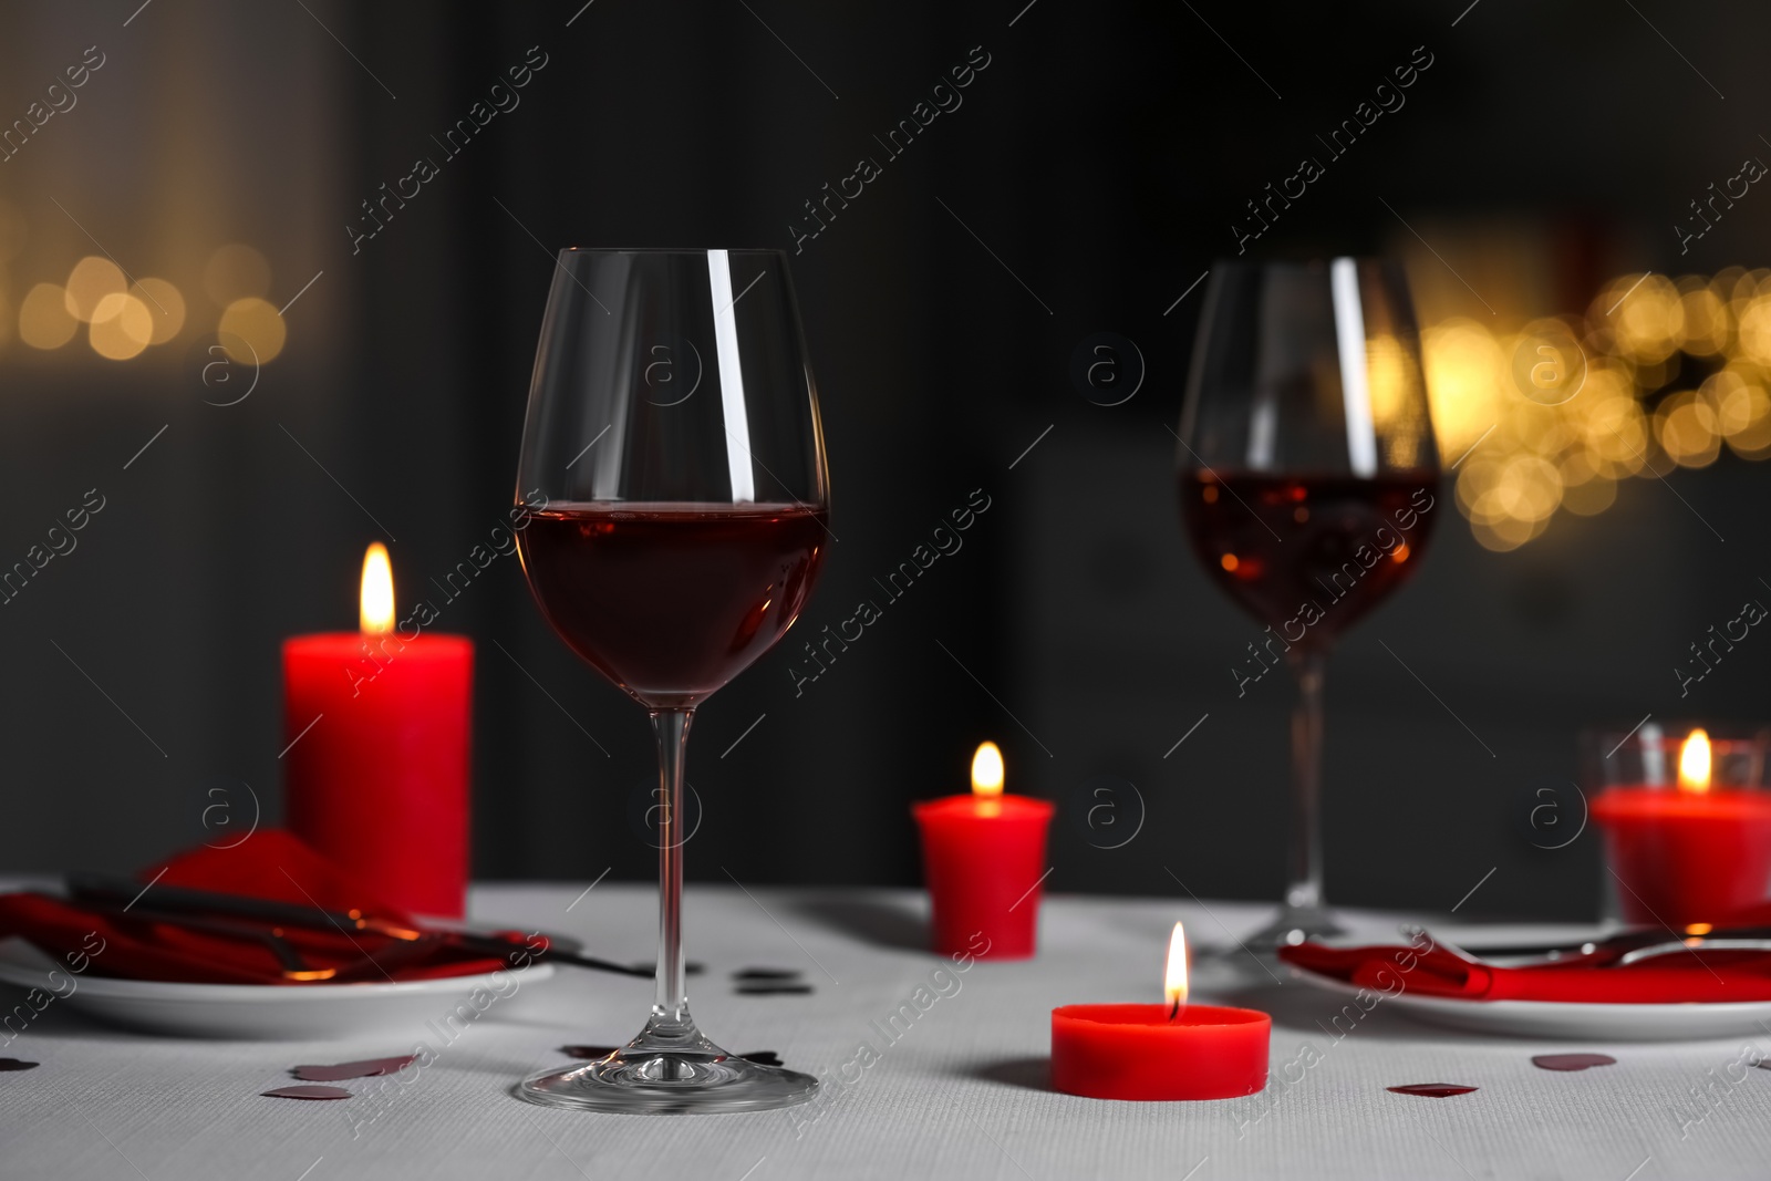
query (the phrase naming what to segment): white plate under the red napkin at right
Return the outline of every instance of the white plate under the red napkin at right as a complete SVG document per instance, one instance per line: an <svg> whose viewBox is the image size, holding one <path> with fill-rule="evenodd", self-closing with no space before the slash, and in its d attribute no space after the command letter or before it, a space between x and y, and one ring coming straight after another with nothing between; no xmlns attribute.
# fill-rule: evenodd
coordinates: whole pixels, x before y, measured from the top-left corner
<svg viewBox="0 0 1771 1181"><path fill-rule="evenodd" d="M1296 965L1298 979L1353 995L1357 986L1318 976ZM1569 1000L1456 1000L1401 992L1383 1000L1420 1022L1481 1034L1592 1041L1698 1041L1762 1034L1771 1022L1771 1000L1684 1004L1578 1004Z"/></svg>

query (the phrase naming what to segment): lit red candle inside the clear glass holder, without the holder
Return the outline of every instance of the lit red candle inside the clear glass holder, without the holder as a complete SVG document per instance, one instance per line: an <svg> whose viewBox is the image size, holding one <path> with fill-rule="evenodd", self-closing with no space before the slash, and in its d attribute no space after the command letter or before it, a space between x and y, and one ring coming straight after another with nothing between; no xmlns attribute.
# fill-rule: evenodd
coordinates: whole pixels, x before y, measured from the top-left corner
<svg viewBox="0 0 1771 1181"><path fill-rule="evenodd" d="M1629 922L1698 926L1766 901L1771 791L1711 786L1709 735L1679 747L1677 790L1608 788L1592 802Z"/></svg>

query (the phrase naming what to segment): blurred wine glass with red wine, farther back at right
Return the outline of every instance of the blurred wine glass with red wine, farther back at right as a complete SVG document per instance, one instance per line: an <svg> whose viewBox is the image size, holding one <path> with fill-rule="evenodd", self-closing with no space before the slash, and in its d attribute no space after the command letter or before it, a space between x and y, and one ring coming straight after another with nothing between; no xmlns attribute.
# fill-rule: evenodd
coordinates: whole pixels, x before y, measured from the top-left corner
<svg viewBox="0 0 1771 1181"><path fill-rule="evenodd" d="M1408 283L1394 262L1211 269L1181 411L1181 519L1264 632L1231 669L1296 675L1286 903L1259 944L1341 928L1323 901L1323 664L1420 565L1440 475Z"/></svg>

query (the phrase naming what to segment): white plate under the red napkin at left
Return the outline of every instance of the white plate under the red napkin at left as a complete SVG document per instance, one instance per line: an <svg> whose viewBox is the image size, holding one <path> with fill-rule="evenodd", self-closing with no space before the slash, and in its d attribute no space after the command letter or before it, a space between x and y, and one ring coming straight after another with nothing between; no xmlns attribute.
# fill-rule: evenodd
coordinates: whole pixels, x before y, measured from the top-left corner
<svg viewBox="0 0 1771 1181"><path fill-rule="evenodd" d="M60 969L58 990L51 988L48 976L53 969ZM0 940L0 981L51 995L66 992L67 981L74 981L74 992L50 1004L66 1004L110 1025L172 1038L329 1041L418 1032L448 1018L460 1027L468 1020L496 1018L521 990L549 976L551 963L531 963L508 972L391 984L181 984L71 976L21 938ZM459 1013L462 1004L471 1018Z"/></svg>

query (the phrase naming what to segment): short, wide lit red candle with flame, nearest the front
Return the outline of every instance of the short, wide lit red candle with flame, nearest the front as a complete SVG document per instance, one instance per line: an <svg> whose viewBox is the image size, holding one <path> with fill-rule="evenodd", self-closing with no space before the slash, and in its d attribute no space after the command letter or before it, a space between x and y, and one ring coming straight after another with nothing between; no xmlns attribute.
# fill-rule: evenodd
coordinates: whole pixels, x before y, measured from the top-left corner
<svg viewBox="0 0 1771 1181"><path fill-rule="evenodd" d="M1052 1085L1091 1100L1233 1100L1266 1085L1273 1018L1187 1004L1187 935L1169 940L1167 1004L1052 1009Z"/></svg>

